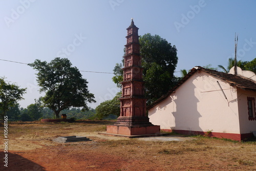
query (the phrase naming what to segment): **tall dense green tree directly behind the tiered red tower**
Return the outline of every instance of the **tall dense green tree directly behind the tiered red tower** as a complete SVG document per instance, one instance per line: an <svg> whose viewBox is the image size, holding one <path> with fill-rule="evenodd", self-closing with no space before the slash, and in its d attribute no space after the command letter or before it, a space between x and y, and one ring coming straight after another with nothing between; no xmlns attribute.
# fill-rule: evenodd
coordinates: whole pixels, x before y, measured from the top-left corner
<svg viewBox="0 0 256 171"><path fill-rule="evenodd" d="M166 94L178 81L174 76L178 57L177 49L159 35L144 34L139 38L140 55L142 56L143 80L145 81L145 97L147 104ZM123 79L122 63L114 68L112 80L121 87Z"/></svg>

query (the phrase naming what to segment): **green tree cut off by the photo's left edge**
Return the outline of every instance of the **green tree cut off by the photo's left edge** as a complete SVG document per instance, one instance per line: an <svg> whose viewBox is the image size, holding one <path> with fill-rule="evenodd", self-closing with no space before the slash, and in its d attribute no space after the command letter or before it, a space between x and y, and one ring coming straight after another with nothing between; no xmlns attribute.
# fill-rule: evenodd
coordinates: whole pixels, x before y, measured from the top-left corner
<svg viewBox="0 0 256 171"><path fill-rule="evenodd" d="M5 117L6 112L15 106L18 100L23 99L26 89L20 89L16 84L0 78L0 116Z"/></svg>

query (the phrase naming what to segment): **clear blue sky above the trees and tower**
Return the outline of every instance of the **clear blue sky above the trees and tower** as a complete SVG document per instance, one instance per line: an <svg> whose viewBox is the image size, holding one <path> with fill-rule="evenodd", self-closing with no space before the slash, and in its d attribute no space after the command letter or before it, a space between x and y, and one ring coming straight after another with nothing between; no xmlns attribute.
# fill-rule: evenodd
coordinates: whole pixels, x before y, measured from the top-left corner
<svg viewBox="0 0 256 171"><path fill-rule="evenodd" d="M27 108L44 93L26 63L66 57L89 82L97 102L88 105L95 109L119 91L111 73L122 60L131 18L139 35L157 34L176 46L180 76L195 66L227 66L235 33L238 59L254 59L255 8L253 0L0 0L0 77L27 88L18 102Z"/></svg>

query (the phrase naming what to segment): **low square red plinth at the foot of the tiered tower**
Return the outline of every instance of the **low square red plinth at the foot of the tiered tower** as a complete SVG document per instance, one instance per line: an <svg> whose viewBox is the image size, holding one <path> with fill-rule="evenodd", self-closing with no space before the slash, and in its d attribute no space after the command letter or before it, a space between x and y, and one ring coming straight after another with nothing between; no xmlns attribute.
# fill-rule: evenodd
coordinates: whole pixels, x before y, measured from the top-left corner
<svg viewBox="0 0 256 171"><path fill-rule="evenodd" d="M160 134L160 125L149 125L149 126L107 125L106 133L127 135L127 136Z"/></svg>

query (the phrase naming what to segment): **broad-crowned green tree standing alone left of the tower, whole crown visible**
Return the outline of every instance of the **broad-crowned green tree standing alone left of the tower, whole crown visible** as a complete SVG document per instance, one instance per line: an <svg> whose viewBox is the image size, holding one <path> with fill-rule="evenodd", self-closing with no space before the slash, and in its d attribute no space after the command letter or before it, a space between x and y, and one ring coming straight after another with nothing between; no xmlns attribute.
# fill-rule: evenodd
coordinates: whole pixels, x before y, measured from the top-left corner
<svg viewBox="0 0 256 171"><path fill-rule="evenodd" d="M42 102L54 111L56 118L62 110L72 106L88 110L87 103L96 102L88 90L88 81L76 67L72 67L69 59L57 57L49 63L36 59L29 66L38 71L39 91L46 93Z"/></svg>

